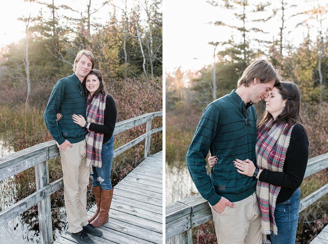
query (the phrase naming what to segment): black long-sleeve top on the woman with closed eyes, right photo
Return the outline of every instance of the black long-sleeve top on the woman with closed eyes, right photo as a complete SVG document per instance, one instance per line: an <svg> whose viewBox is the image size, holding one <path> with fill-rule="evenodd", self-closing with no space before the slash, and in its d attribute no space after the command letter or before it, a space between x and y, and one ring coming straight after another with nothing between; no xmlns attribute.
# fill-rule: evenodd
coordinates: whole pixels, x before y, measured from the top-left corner
<svg viewBox="0 0 328 244"><path fill-rule="evenodd" d="M287 201L301 185L309 156L309 141L301 125L296 124L292 130L283 172L263 170L259 180L275 186L281 186L277 203Z"/></svg>

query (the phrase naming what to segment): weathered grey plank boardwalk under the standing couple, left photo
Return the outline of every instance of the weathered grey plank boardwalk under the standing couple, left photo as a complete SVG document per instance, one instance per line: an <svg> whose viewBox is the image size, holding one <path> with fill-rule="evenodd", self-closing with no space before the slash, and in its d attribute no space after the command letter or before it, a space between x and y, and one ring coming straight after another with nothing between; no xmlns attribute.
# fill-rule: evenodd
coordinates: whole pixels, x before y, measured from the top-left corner
<svg viewBox="0 0 328 244"><path fill-rule="evenodd" d="M162 243L162 158L162 151L148 156L114 187L109 221L99 227L103 235L90 235L95 244ZM95 210L96 205L88 214ZM77 242L65 232L54 243Z"/></svg>

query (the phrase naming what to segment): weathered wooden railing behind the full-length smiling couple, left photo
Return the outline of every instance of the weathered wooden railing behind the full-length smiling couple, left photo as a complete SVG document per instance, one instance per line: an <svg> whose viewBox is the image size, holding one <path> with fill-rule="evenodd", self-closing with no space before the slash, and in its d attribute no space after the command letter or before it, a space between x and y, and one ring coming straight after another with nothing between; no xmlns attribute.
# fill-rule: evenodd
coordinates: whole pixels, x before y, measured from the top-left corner
<svg viewBox="0 0 328 244"><path fill-rule="evenodd" d="M116 123L113 135L132 129L146 123L146 132L127 144L114 150L114 157L145 140L145 158L150 152L151 135L162 131L162 127L152 129L154 117L162 116L162 112L146 113L131 119ZM41 243L52 243L52 221L50 195L63 188L63 178L49 183L48 160L59 156L59 150L54 140L37 144L33 147L11 153L0 158L0 181L31 167L35 168L36 192L20 200L0 212L0 227L14 219L29 208L38 204L38 219Z"/></svg>

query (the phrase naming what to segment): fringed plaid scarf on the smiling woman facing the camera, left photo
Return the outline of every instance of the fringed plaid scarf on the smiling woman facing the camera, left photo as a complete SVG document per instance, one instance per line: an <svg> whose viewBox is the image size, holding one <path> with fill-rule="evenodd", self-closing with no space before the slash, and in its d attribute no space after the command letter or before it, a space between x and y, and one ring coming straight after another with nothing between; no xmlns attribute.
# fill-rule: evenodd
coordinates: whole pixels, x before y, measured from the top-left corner
<svg viewBox="0 0 328 244"><path fill-rule="evenodd" d="M98 94L91 98L89 95L87 100L87 121L89 123L95 123L97 125L104 124L104 111L106 107L106 97L101 99L101 94ZM91 101L92 99L92 101ZM92 174L92 167L101 168L101 148L104 138L103 133L98 133L88 130L88 134L85 137L87 143L87 163L86 166L90 167L90 173Z"/></svg>

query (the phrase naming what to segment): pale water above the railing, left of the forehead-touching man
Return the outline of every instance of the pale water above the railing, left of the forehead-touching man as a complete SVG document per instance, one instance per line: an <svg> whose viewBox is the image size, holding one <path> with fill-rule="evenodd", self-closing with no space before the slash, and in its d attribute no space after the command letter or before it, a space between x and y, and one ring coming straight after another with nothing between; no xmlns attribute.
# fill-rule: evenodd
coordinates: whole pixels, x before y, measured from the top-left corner
<svg viewBox="0 0 328 244"><path fill-rule="evenodd" d="M176 202L199 194L187 169L186 162L166 162L165 166L165 204Z"/></svg>

